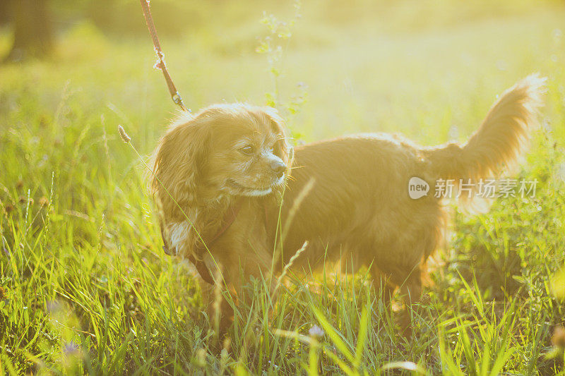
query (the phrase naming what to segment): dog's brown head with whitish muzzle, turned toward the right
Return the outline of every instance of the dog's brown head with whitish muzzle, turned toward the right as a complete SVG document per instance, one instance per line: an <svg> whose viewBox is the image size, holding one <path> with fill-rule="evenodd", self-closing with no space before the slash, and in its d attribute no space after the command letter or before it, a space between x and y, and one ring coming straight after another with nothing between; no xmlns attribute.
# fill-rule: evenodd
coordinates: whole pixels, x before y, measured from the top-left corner
<svg viewBox="0 0 565 376"><path fill-rule="evenodd" d="M269 195L283 188L291 163L275 109L217 104L184 114L162 138L152 188L162 203L169 193L179 203Z"/></svg>

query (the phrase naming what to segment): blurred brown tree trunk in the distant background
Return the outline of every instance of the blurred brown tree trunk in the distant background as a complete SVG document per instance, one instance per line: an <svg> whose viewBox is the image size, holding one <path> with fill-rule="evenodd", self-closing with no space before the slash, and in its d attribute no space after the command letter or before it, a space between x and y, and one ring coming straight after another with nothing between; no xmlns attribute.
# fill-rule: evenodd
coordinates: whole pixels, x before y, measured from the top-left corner
<svg viewBox="0 0 565 376"><path fill-rule="evenodd" d="M13 45L7 61L43 57L53 46L47 0L12 0Z"/></svg>

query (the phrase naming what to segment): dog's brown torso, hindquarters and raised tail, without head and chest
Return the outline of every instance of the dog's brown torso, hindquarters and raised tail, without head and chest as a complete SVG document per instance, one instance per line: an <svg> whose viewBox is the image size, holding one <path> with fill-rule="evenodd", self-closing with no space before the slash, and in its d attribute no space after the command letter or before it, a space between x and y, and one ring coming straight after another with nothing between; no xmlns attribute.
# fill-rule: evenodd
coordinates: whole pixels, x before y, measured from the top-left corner
<svg viewBox="0 0 565 376"><path fill-rule="evenodd" d="M345 257L353 271L370 265L377 284L418 298L422 265L445 222L437 179L496 177L515 162L537 123L544 83L532 75L504 92L464 145L423 148L398 136L355 135L297 147L281 216L283 226L292 217L283 260L309 241L295 265ZM427 195L410 198L415 177L429 185ZM313 188L302 192L311 179Z"/></svg>

